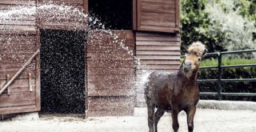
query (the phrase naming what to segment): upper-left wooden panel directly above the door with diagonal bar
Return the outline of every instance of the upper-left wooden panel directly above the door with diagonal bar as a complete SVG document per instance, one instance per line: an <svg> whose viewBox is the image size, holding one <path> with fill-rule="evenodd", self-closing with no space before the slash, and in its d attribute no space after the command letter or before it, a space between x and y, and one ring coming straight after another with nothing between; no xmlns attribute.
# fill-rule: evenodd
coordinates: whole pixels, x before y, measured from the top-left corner
<svg viewBox="0 0 256 132"><path fill-rule="evenodd" d="M3 16L6 18L0 18L0 34L35 33L36 16L21 14L22 11L25 12L24 10L32 9L35 6L35 0L0 1L0 12L6 13Z"/></svg>

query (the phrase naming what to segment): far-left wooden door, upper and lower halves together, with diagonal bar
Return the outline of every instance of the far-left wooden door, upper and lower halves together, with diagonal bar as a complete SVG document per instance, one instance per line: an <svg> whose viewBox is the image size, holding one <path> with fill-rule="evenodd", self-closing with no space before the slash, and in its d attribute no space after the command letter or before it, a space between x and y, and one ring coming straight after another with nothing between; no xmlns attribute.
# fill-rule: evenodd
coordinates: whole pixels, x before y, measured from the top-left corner
<svg viewBox="0 0 256 132"><path fill-rule="evenodd" d="M1 1L2 11L8 12L12 7L36 5L34 1ZM39 48L39 34L34 15L0 21L0 114L14 114L40 110L40 74L39 55L34 53ZM37 52L38 53L38 52ZM32 62L30 58L34 56ZM29 61L29 62L28 62ZM2 89L14 77L22 66L14 82Z"/></svg>

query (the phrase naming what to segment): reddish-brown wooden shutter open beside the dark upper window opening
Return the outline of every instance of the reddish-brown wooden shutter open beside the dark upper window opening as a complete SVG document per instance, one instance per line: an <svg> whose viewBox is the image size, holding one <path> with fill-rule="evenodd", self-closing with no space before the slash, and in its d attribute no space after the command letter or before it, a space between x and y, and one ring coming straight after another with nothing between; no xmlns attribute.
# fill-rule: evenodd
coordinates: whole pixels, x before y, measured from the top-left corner
<svg viewBox="0 0 256 132"><path fill-rule="evenodd" d="M138 30L178 32L178 3L178 0L137 0Z"/></svg>

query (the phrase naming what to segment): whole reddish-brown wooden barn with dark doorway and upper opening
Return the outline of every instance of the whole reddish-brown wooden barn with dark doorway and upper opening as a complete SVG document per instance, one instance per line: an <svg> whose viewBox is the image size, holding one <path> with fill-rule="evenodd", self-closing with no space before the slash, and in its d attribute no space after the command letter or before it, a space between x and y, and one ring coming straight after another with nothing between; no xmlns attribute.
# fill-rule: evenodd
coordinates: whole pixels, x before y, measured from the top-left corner
<svg viewBox="0 0 256 132"><path fill-rule="evenodd" d="M51 2L94 14L106 31L77 12L42 11L49 1L0 1L1 13L36 9L0 21L0 114L131 115L145 106L146 73L178 70L178 0Z"/></svg>

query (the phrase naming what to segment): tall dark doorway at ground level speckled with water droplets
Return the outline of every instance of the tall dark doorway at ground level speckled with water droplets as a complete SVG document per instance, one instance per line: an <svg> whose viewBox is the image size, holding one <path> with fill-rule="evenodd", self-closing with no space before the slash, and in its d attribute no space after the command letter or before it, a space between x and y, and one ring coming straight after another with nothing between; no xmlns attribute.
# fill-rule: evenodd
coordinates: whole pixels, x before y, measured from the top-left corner
<svg viewBox="0 0 256 132"><path fill-rule="evenodd" d="M41 112L85 114L84 31L40 30Z"/></svg>

